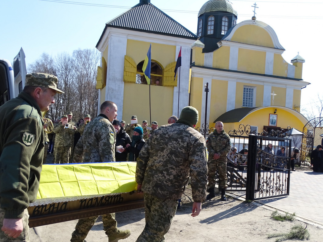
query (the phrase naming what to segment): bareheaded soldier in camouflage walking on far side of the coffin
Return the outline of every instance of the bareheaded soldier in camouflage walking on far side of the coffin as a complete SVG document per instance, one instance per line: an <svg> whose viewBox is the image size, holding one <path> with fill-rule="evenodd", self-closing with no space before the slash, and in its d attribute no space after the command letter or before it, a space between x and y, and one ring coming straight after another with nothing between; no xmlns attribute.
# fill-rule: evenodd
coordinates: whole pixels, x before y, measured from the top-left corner
<svg viewBox="0 0 323 242"><path fill-rule="evenodd" d="M74 150L74 162L115 161L116 132L111 122L117 117L117 105L105 101L100 106L100 114L87 124ZM81 218L72 233L71 242L83 242L99 216ZM109 241L117 242L130 236L131 231L117 227L115 213L102 215L103 230Z"/></svg>

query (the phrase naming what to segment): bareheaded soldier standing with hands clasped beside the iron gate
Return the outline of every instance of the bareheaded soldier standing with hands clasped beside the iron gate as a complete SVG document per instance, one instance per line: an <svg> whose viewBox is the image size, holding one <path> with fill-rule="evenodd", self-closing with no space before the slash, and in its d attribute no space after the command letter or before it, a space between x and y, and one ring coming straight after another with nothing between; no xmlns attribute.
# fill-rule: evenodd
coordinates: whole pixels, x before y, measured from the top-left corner
<svg viewBox="0 0 323 242"><path fill-rule="evenodd" d="M231 150L230 136L224 132L223 123L217 121L215 123L215 130L209 135L206 141L206 147L209 151L209 174L208 174L208 187L209 195L206 199L215 197L215 173L218 170L219 174L219 188L221 188L221 199L226 201L225 188L227 187L226 177L226 154Z"/></svg>

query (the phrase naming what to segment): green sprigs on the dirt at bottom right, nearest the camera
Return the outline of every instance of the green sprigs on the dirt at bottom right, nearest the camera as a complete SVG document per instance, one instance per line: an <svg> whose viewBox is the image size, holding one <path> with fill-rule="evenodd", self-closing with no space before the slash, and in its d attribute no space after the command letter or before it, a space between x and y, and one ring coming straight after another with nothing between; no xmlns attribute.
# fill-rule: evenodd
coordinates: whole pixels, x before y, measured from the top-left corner
<svg viewBox="0 0 323 242"><path fill-rule="evenodd" d="M291 230L288 233L276 233L276 234L269 234L267 238L276 238L275 242L281 242L285 241L288 239L298 239L298 240L308 240L309 239L309 232L304 228L302 225L295 225L294 227L291 228Z"/></svg>

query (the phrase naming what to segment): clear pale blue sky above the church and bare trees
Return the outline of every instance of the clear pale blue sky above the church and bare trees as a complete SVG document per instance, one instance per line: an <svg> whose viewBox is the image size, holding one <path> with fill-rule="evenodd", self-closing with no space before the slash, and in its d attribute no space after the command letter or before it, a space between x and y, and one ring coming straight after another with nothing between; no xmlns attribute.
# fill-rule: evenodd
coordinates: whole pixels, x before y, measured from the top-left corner
<svg viewBox="0 0 323 242"><path fill-rule="evenodd" d="M193 33L196 33L197 13L205 2L151 0L153 5ZM323 1L231 2L238 12L238 23L251 19L252 5L256 2L259 7L256 9L257 20L274 29L280 44L286 49L284 59L290 63L297 52L305 59L303 79L312 84L302 91L302 107L309 107L318 93L322 96ZM105 23L138 3L139 0L1 0L0 58L13 62L22 47L28 66L43 52L55 56L61 52L72 53L78 48L94 48Z"/></svg>

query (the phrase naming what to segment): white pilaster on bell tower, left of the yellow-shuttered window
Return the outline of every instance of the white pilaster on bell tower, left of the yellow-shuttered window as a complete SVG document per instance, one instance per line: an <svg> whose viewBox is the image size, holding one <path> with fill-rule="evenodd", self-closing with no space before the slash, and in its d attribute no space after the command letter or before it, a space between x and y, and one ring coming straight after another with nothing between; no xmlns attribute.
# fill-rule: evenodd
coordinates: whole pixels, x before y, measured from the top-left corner
<svg viewBox="0 0 323 242"><path fill-rule="evenodd" d="M105 100L114 102L118 107L118 119L122 120L123 110L123 71L124 56L127 50L127 37L111 35L107 56L107 82Z"/></svg>

